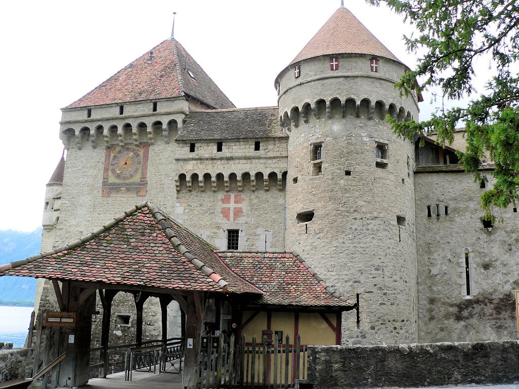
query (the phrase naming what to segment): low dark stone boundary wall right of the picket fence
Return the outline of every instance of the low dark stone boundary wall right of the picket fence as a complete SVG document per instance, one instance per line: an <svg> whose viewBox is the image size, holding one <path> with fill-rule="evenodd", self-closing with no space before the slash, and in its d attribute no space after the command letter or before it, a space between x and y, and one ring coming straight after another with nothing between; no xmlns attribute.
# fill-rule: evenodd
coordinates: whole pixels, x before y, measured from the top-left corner
<svg viewBox="0 0 519 389"><path fill-rule="evenodd" d="M500 384L519 381L519 341L309 346L314 389Z"/></svg>

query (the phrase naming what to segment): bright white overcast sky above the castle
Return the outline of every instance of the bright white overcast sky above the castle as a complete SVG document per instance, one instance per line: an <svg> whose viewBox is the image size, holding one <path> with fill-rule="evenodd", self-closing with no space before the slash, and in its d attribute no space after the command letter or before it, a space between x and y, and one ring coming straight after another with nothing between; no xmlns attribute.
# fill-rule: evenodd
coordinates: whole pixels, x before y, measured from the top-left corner
<svg viewBox="0 0 519 389"><path fill-rule="evenodd" d="M60 108L168 38L173 11L175 38L236 106L250 107L277 104L276 75L339 6L340 0L0 2L0 230L41 224L45 184L63 149ZM411 27L400 16L364 0L345 6L414 67L402 41ZM422 119L430 112L424 97Z"/></svg>

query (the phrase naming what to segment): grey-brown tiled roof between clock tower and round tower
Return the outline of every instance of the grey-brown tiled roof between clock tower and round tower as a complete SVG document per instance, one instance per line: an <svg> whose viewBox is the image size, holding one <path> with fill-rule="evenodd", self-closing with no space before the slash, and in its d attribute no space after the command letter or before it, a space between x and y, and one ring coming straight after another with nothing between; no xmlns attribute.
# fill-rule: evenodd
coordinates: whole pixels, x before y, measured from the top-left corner
<svg viewBox="0 0 519 389"><path fill-rule="evenodd" d="M185 120L177 141L286 137L278 107L192 111Z"/></svg>

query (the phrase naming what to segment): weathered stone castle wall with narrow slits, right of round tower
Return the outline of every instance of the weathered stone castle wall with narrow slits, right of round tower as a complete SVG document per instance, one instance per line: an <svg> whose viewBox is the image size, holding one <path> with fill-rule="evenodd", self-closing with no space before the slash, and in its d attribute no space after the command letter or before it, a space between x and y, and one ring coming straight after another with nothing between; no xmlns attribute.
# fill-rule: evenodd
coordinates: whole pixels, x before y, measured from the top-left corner
<svg viewBox="0 0 519 389"><path fill-rule="evenodd" d="M519 213L513 205L495 210L494 227L484 228L479 197L486 189L471 174L416 174L415 188L420 342L517 339Z"/></svg>

